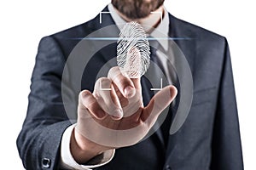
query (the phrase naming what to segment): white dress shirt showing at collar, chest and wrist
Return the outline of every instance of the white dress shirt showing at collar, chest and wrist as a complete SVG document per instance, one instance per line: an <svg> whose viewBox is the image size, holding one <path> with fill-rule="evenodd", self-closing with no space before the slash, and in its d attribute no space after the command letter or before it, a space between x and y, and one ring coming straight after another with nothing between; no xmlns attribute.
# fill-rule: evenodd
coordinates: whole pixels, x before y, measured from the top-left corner
<svg viewBox="0 0 256 170"><path fill-rule="evenodd" d="M126 21L123 20L119 14L117 14L117 12L115 11L115 9L113 8L112 3L108 4L108 10L115 22L115 24L119 27L119 24L125 24ZM163 14L163 18L162 21L160 23L159 26L157 26L155 28L155 30L157 31L152 31L150 33L150 37L154 37L154 38L158 38L161 37L161 41L160 45L167 51L168 49L168 39L167 37L163 38L163 34L168 36L168 31L169 31L169 15L168 12L166 11L166 8L164 10L164 14ZM103 20L102 20L103 22ZM121 29L119 27L119 29ZM159 34L159 32L161 32L161 34ZM162 55L160 54L160 52L157 50L156 54L158 56ZM165 72L167 74L167 79L168 78L168 65L166 65L166 58L165 57L160 57L160 62L163 64L163 67L165 69ZM65 130L65 132L62 135L62 139L61 139L61 167L65 168L65 169L81 169L81 170L90 170L91 168L94 167L101 167L103 165L106 165L109 161L111 161L113 159L114 156L114 151L115 150L108 150L105 151L102 156L100 156L100 159L97 159L97 157L95 159L93 159L93 162L87 162L87 165L81 165L78 162L76 162L71 154L71 150L70 150L70 139L71 139L71 135L73 132L73 128L76 126L76 124L73 124L70 127L67 127L67 129Z"/></svg>

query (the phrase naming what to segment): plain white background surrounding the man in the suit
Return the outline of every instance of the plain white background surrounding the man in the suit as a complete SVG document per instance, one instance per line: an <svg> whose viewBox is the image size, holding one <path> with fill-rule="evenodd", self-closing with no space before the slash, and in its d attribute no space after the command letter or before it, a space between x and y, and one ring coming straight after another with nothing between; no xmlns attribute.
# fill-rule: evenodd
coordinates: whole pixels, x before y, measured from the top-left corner
<svg viewBox="0 0 256 170"><path fill-rule="evenodd" d="M1 1L1 169L23 169L15 140L26 116L30 77L40 38L84 23L96 16L108 2L109 0ZM173 15L228 38L243 156L245 169L248 170L255 168L256 153L256 10L253 4L253 0L166 0L166 8Z"/></svg>

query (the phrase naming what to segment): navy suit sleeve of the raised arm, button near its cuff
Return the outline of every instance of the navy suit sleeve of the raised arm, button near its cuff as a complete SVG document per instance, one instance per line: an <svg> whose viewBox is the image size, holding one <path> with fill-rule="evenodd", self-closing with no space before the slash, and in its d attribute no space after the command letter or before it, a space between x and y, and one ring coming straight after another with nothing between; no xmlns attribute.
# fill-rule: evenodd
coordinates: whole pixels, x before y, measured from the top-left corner
<svg viewBox="0 0 256 170"><path fill-rule="evenodd" d="M26 169L55 169L60 159L61 136L71 125L61 98L65 58L54 37L39 43L32 73L26 120L17 139Z"/></svg>

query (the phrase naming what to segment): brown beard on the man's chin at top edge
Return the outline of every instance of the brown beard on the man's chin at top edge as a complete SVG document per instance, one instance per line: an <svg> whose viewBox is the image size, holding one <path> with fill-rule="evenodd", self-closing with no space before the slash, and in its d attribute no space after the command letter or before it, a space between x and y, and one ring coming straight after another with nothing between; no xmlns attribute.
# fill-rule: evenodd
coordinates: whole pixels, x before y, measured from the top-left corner
<svg viewBox="0 0 256 170"><path fill-rule="evenodd" d="M165 0L112 0L114 8L131 20L147 17L164 2Z"/></svg>

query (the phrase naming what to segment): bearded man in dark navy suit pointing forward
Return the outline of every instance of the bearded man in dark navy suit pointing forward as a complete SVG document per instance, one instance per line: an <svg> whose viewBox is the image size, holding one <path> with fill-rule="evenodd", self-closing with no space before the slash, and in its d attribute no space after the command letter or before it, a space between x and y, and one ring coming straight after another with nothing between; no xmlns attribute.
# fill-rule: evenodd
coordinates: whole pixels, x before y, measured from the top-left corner
<svg viewBox="0 0 256 170"><path fill-rule="evenodd" d="M41 40L32 73L26 120L17 139L24 167L243 169L228 43L224 37L168 14L163 2L113 0L95 19ZM155 17L152 11L162 15ZM84 51L76 50L83 44L81 38L84 40L84 37L108 26L116 25L110 34L117 37L118 23L131 20L166 31L164 33L169 37L185 37L177 38L175 42L189 63L194 85L193 100L183 126L172 135L166 133L166 129L174 121L178 99L182 102L181 85L177 84L178 90L172 85L166 86L151 99L153 94L148 91L145 77L130 79L122 76L118 67L112 66L109 66L108 77L97 77L102 67L115 57L116 43L94 51L97 42L90 42L90 47L83 46ZM148 30L148 34L154 37L153 32ZM103 31L104 35L108 33ZM165 43L160 42L160 45L166 48ZM88 59L87 53L93 56ZM73 55L88 60L79 82L76 80L78 70L81 70L79 63L84 64L84 61L67 64ZM156 56L161 58L160 54ZM163 59L160 62L166 63ZM168 79L171 68L163 67ZM169 75L175 82L171 77ZM102 86L112 91L101 91ZM165 122L156 133L143 139L176 94L175 104L172 104ZM154 104L158 106L156 110ZM122 108L127 105L130 109L138 105L138 109L125 116L127 113ZM74 124L73 119L77 120ZM113 136L106 137L105 131L100 131L92 123L94 121L119 131L141 128L133 135L120 133L121 138L116 140L111 138Z"/></svg>

